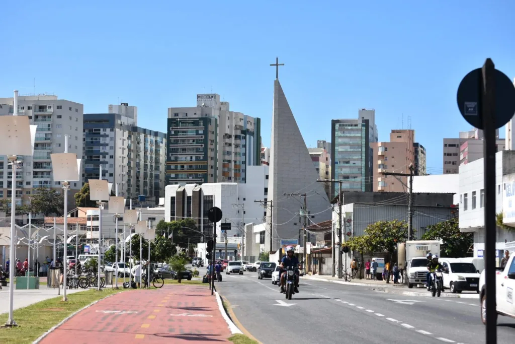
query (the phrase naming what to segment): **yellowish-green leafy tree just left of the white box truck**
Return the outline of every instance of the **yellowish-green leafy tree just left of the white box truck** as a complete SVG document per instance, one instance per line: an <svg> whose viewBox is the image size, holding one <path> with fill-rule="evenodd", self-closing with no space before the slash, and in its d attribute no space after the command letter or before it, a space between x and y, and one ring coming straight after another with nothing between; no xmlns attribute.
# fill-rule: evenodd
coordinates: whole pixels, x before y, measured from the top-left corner
<svg viewBox="0 0 515 344"><path fill-rule="evenodd" d="M365 228L365 235L370 240L374 251L387 251L390 257L397 250L397 243L408 238L408 225L406 221L377 221Z"/></svg>

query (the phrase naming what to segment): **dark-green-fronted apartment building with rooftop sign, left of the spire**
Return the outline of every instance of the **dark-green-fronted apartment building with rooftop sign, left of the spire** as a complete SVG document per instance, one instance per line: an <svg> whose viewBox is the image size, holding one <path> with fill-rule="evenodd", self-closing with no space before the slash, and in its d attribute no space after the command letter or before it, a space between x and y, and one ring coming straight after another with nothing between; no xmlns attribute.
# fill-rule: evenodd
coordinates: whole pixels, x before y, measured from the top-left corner
<svg viewBox="0 0 515 344"><path fill-rule="evenodd" d="M166 183L245 183L261 165L261 119L230 111L219 94L197 94L195 107L168 108Z"/></svg>

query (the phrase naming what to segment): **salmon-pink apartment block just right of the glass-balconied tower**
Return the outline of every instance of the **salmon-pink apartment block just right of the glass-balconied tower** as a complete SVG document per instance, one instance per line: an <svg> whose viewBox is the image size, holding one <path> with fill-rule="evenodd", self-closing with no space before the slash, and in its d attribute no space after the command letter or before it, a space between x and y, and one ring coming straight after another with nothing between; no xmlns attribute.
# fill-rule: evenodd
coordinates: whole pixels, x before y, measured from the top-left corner
<svg viewBox="0 0 515 344"><path fill-rule="evenodd" d="M407 177L397 177L401 183L396 177L385 175L384 172L409 173L409 165L415 167L414 143L415 130L396 129L390 133L390 142L371 144L373 170L376 173L373 191L406 192Z"/></svg>

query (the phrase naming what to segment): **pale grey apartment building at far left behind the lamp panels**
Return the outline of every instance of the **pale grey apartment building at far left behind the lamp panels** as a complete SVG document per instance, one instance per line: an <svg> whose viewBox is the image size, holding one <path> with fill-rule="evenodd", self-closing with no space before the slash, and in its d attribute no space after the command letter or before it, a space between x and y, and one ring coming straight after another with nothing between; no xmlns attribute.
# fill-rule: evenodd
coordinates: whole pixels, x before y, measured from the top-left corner
<svg viewBox="0 0 515 344"><path fill-rule="evenodd" d="M0 98L0 116L13 114L12 97ZM54 94L20 95L18 116L28 116L30 124L37 125L33 156L19 156L20 166L16 169L17 204L29 202L33 188L61 190L61 182L54 182L50 154L64 153L64 137L68 136L68 153L82 158L83 105L59 99ZM0 156L0 199L11 198L12 169L6 156ZM70 205L73 194L80 190L80 181L70 183Z"/></svg>

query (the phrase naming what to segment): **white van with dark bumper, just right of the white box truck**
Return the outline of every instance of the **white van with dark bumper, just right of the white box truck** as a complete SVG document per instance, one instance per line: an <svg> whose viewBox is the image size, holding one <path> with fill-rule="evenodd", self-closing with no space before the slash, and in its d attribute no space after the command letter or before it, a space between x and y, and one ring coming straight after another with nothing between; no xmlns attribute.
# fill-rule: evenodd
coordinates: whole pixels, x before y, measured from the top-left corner
<svg viewBox="0 0 515 344"><path fill-rule="evenodd" d="M446 269L443 273L443 287L452 293L463 290L479 293L479 272L472 263L461 261L459 258L444 258L440 260Z"/></svg>

